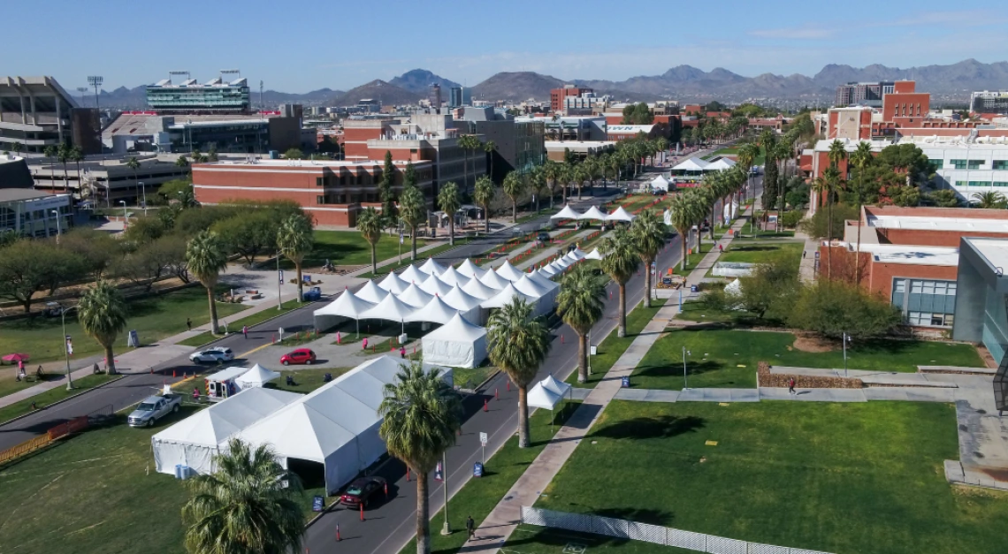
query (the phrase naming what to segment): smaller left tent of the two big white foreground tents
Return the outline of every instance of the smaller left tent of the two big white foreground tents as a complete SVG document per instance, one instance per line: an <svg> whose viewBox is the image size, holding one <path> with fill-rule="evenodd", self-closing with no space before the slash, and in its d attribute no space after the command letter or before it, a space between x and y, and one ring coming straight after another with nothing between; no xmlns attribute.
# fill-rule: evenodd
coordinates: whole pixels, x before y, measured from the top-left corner
<svg viewBox="0 0 1008 554"><path fill-rule="evenodd" d="M151 437L154 468L173 474L175 465L198 473L213 473L214 456L232 435L297 401L302 395L276 389L253 388L201 410Z"/></svg>

